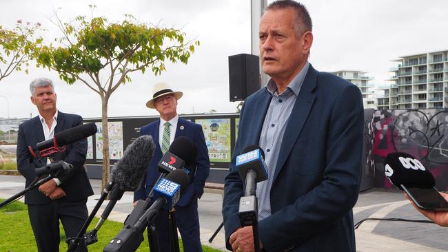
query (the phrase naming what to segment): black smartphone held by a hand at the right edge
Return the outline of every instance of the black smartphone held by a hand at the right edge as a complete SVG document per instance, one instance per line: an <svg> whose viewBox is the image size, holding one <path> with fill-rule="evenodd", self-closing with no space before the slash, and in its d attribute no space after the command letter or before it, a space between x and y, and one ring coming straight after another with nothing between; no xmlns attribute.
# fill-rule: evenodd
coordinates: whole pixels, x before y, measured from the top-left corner
<svg viewBox="0 0 448 252"><path fill-rule="evenodd" d="M438 193L435 187L416 188L401 185L407 196L419 209L430 211L448 211L448 202Z"/></svg>

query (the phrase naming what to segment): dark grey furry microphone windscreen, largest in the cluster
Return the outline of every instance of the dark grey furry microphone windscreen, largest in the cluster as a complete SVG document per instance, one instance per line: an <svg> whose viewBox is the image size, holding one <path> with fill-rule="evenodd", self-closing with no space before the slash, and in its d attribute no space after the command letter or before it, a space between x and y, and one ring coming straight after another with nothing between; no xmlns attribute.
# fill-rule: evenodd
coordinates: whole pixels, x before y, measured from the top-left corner
<svg viewBox="0 0 448 252"><path fill-rule="evenodd" d="M140 136L128 145L123 157L116 161L110 179L122 191L135 191L141 185L152 155L154 155L152 136Z"/></svg>

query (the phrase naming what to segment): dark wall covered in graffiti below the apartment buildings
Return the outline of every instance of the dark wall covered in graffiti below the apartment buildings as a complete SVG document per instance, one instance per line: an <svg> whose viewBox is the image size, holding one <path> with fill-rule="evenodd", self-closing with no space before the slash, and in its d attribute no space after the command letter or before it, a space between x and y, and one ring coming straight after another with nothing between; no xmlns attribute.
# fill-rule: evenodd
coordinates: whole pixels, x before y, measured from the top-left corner
<svg viewBox="0 0 448 252"><path fill-rule="evenodd" d="M392 187L384 175L383 162L387 154L400 151L418 158L431 171L438 190L448 189L447 110L376 110L373 118L366 117L365 121L374 133L367 134L373 138L373 146L366 161L375 164L374 187Z"/></svg>

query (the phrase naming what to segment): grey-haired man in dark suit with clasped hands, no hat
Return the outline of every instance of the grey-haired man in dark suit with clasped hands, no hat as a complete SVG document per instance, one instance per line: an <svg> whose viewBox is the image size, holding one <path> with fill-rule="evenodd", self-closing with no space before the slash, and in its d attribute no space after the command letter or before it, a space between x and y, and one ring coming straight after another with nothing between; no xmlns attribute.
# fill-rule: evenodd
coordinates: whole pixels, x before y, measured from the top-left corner
<svg viewBox="0 0 448 252"><path fill-rule="evenodd" d="M48 78L37 78L30 84L31 101L39 116L19 125L17 137L17 169L26 178L26 187L36 179L35 169L50 162L50 158L34 158L28 146L53 138L54 134L81 125L83 118L65 114L56 108L57 96ZM74 171L45 182L25 195L28 215L39 251L59 251L59 220L66 237L76 237L88 218L86 202L93 194L83 167L87 152L87 140L79 140L66 146L65 151L54 154L54 161L64 160L73 165ZM77 251L87 251L81 244Z"/></svg>

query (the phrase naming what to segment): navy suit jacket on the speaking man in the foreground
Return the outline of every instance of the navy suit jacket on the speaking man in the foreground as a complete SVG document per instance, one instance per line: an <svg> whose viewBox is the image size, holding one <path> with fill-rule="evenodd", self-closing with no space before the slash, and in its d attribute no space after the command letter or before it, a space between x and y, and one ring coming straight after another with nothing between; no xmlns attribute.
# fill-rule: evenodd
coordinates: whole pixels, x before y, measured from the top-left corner
<svg viewBox="0 0 448 252"><path fill-rule="evenodd" d="M271 96L264 88L241 110L238 139L225 178L227 249L241 224L243 181L235 157L258 145ZM266 251L353 251L352 207L358 198L363 149L363 98L358 87L310 65L289 116L270 191L272 215L259 222ZM258 196L260 197L260 196Z"/></svg>

